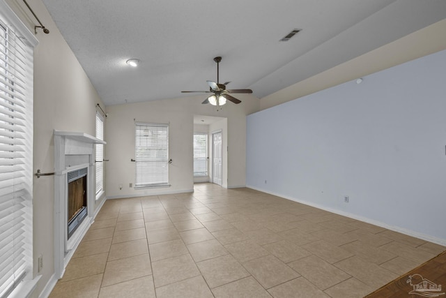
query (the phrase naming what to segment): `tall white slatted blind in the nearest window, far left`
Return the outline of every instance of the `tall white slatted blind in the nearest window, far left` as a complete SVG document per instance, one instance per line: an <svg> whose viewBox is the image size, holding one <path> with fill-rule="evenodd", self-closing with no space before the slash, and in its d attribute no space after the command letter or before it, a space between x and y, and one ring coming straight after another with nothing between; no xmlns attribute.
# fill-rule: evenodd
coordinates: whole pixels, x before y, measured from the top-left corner
<svg viewBox="0 0 446 298"><path fill-rule="evenodd" d="M33 239L33 48L3 17L0 12L0 297L26 274L32 278Z"/></svg>

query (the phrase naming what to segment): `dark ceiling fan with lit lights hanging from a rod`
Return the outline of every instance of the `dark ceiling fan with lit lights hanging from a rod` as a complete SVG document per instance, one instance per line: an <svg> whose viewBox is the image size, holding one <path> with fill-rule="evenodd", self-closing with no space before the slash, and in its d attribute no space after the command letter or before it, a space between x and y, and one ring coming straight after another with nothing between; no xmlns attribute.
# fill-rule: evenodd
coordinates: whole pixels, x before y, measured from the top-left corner
<svg viewBox="0 0 446 298"><path fill-rule="evenodd" d="M218 65L220 64L220 61L222 61L222 57L215 57L214 61L217 63L217 82L212 81L206 81L209 85L209 91L181 91L183 93L213 93L213 95L206 98L206 100L203 101L203 104L210 103L211 105L224 105L226 103L226 100L229 100L233 103L241 103L241 101L233 96L231 94L250 94L252 93L251 89L226 89L226 85L230 82L226 82L224 84L220 84L218 82L219 80L219 68Z"/></svg>

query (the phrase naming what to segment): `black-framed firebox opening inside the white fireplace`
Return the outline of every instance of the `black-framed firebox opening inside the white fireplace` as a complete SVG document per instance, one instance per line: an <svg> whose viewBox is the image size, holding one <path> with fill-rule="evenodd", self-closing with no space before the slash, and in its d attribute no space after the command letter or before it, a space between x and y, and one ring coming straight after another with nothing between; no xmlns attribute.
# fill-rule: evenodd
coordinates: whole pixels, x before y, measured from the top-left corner
<svg viewBox="0 0 446 298"><path fill-rule="evenodd" d="M68 239L87 216L87 174L86 167L68 173Z"/></svg>

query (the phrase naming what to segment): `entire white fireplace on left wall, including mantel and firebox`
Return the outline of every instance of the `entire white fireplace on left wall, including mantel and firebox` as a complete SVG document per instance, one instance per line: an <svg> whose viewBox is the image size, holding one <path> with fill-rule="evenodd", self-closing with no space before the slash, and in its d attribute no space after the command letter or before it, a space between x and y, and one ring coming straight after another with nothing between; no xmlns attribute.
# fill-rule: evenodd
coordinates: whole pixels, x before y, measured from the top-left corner
<svg viewBox="0 0 446 298"><path fill-rule="evenodd" d="M54 272L61 278L95 211L95 144L86 133L54 131ZM76 182L77 181L77 182ZM73 184L74 182L74 184ZM71 195L74 201L69 202Z"/></svg>

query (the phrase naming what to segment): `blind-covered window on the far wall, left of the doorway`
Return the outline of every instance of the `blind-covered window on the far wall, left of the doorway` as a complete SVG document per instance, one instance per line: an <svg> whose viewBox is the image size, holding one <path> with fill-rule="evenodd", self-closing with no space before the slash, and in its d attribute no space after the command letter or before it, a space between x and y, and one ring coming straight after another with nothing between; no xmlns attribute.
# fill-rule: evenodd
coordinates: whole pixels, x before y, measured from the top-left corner
<svg viewBox="0 0 446 298"><path fill-rule="evenodd" d="M134 187L169 185L169 126L136 123Z"/></svg>

